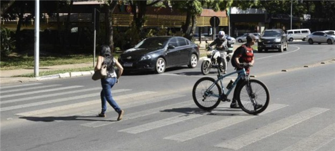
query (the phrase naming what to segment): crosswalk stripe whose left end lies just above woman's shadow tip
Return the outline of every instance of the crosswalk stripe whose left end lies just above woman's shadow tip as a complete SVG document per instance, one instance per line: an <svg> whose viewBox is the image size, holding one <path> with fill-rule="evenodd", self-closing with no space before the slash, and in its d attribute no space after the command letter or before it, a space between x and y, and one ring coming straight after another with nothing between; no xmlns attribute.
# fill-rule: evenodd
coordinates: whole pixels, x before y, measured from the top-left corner
<svg viewBox="0 0 335 151"><path fill-rule="evenodd" d="M132 97L139 97L139 96L143 96L143 95L149 95L151 93L155 93L155 92L144 91L144 92L138 92L138 93L131 93L131 94L128 94L128 95L114 97L114 99L115 100L121 100L121 99L127 99L127 98L132 98ZM98 104L98 103L101 103L101 101L100 100L93 100L93 101L87 101L87 102L82 102L82 103L75 103L75 104L51 107L51 108L46 108L46 109L22 112L22 113L18 113L18 114L15 114L15 115L28 117L28 116L38 115L38 114L45 114L47 112L60 111L60 110L65 110L65 109L87 106L87 105L94 105L94 104Z"/></svg>

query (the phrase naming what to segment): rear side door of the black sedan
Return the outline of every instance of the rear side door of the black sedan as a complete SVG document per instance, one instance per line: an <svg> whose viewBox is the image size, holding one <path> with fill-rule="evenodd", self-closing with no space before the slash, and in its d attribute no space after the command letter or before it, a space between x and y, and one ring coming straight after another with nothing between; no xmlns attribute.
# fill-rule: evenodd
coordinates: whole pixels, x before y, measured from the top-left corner
<svg viewBox="0 0 335 151"><path fill-rule="evenodd" d="M188 64L189 58L191 55L191 48L187 44L187 41L183 37L178 37L177 42L180 49L180 55L178 57L180 64L185 65Z"/></svg>

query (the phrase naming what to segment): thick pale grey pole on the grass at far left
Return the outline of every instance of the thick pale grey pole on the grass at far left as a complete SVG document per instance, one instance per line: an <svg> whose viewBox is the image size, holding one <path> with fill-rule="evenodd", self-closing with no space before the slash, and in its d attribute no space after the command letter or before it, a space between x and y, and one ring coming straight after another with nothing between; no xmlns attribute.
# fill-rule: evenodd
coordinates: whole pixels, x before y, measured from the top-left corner
<svg viewBox="0 0 335 151"><path fill-rule="evenodd" d="M35 1L35 47L34 77L39 77L40 69L40 0Z"/></svg>

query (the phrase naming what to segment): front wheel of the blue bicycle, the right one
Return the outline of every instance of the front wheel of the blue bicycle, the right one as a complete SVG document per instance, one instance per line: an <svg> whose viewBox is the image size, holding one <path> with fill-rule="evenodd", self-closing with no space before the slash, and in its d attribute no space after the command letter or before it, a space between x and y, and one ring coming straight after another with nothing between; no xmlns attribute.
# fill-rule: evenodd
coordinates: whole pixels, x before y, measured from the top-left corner
<svg viewBox="0 0 335 151"><path fill-rule="evenodd" d="M259 80L250 79L249 83L250 87L246 81L238 87L237 101L243 111L251 115L258 115L269 105L270 93L266 85ZM250 95L248 92L249 88L251 89ZM252 100L254 100L257 104L262 105L262 107L256 109Z"/></svg>

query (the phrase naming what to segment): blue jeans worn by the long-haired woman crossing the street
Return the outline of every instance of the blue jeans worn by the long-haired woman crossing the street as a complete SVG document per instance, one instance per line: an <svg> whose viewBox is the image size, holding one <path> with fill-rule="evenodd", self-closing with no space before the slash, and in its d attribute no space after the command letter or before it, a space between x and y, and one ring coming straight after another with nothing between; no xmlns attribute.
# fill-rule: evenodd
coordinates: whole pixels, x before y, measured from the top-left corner
<svg viewBox="0 0 335 151"><path fill-rule="evenodd" d="M100 97L101 97L101 105L102 105L101 112L103 114L107 110L106 102L108 102L109 105L112 106L116 112L118 113L121 112L120 106L117 105L117 103L112 97L111 89L115 83L116 83L116 78L101 79L101 86L103 87L103 90L100 93Z"/></svg>

